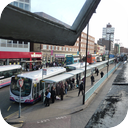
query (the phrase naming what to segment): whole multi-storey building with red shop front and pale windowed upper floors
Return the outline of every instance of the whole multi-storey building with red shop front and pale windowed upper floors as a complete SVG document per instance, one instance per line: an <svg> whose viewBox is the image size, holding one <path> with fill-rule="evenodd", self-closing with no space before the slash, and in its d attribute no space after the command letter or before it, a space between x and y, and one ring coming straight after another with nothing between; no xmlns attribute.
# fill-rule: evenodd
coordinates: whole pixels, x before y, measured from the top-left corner
<svg viewBox="0 0 128 128"><path fill-rule="evenodd" d="M23 10L31 10L31 0L2 0ZM20 24L19 24L20 25ZM30 53L30 43L26 41L0 39L0 65L20 64L41 60L41 53ZM25 63L24 63L25 64Z"/></svg>

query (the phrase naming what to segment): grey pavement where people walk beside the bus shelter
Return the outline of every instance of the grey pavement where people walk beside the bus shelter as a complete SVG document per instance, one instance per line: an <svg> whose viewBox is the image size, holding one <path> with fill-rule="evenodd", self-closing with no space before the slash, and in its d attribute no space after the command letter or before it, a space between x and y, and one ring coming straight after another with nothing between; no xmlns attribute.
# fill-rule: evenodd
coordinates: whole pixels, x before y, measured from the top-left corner
<svg viewBox="0 0 128 128"><path fill-rule="evenodd" d="M109 69L112 69L115 65L112 64L109 66ZM107 72L107 67L102 69L104 74ZM94 75L95 82L97 82L101 77ZM111 83L112 84L112 83ZM91 88L91 80L90 77L86 80L86 91ZM64 95L64 100L56 100L54 104L50 104L49 107L45 107L43 102L38 102L31 107L26 107L24 110L21 110L21 117L18 118L19 113L15 113L5 118L0 125L0 128L35 128L37 125L39 127L43 127L44 123L50 122L53 119L65 119L68 120L67 115L71 115L74 113L78 113L86 109L88 104L82 104L83 96L80 94L78 97L78 89L74 89L68 91L66 95ZM96 108L95 108L96 109ZM88 119L89 121L89 119ZM54 126L53 123L52 126ZM66 125L66 122L64 122ZM70 125L70 124L69 124ZM69 126L64 126L64 128L68 128ZM50 126L47 128L50 128ZM52 127L51 127L52 128Z"/></svg>

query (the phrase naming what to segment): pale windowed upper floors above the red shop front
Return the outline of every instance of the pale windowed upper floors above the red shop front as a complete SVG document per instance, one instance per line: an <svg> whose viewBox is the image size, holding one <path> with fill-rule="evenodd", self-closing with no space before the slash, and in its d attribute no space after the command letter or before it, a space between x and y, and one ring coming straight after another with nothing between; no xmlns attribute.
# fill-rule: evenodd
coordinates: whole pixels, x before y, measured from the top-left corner
<svg viewBox="0 0 128 128"><path fill-rule="evenodd" d="M26 11L31 10L31 0L2 0L13 6L19 7ZM26 41L17 40L5 40L0 39L0 51L18 51L18 52L29 52L30 43Z"/></svg>

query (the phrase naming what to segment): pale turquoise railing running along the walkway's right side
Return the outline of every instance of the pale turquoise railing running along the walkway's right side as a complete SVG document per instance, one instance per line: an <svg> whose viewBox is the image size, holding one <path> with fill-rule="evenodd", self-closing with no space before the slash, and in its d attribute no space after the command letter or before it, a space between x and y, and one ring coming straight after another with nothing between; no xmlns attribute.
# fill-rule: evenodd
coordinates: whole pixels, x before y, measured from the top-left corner
<svg viewBox="0 0 128 128"><path fill-rule="evenodd" d="M108 76L119 66L118 63L113 69L108 72ZM98 89L98 87L107 79L107 74L104 75L98 82L94 84L86 93L85 93L85 102L89 99L89 97Z"/></svg>

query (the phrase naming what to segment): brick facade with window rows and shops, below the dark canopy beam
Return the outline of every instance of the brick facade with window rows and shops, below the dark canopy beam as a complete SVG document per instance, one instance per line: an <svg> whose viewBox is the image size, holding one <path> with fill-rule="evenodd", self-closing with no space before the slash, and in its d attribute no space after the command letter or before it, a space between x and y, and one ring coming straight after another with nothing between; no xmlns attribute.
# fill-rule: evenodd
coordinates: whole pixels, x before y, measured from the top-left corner
<svg viewBox="0 0 128 128"><path fill-rule="evenodd" d="M86 55L86 33L81 33L81 42L79 46L80 39L78 38L74 46L56 46L41 44L42 59L44 62L47 61L58 61L62 62L65 60L66 55L80 55L81 59ZM88 54L94 53L94 42L95 38L89 35L88 38ZM80 47L80 48L79 48Z"/></svg>

